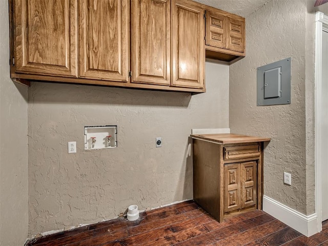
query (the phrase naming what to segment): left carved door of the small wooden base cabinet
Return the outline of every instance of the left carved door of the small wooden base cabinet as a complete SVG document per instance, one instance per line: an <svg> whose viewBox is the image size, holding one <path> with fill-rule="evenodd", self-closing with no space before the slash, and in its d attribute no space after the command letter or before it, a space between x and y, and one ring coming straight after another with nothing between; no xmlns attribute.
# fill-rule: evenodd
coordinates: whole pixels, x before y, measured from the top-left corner
<svg viewBox="0 0 328 246"><path fill-rule="evenodd" d="M224 165L224 213L240 209L240 163Z"/></svg>

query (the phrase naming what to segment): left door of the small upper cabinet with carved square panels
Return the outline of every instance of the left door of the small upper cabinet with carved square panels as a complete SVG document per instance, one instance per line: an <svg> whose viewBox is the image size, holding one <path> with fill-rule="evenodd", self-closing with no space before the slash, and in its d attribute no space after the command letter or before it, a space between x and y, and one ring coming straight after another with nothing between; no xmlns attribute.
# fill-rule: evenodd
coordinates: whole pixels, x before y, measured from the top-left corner
<svg viewBox="0 0 328 246"><path fill-rule="evenodd" d="M227 17L206 11L206 45L227 48Z"/></svg>

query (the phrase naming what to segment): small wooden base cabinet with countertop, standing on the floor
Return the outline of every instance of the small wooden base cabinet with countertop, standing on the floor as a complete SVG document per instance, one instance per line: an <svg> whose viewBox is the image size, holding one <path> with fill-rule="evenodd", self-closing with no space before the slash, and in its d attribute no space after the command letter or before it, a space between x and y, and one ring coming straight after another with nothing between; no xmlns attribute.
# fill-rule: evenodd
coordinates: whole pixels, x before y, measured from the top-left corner
<svg viewBox="0 0 328 246"><path fill-rule="evenodd" d="M191 135L194 200L219 222L262 209L263 142L237 134Z"/></svg>

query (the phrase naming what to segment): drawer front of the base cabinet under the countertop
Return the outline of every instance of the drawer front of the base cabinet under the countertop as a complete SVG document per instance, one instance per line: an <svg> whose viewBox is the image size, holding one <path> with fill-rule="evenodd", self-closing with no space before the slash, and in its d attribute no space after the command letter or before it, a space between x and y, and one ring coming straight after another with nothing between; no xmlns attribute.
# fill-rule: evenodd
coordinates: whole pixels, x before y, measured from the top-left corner
<svg viewBox="0 0 328 246"><path fill-rule="evenodd" d="M224 147L225 160L260 156L260 154L261 154L260 145Z"/></svg>

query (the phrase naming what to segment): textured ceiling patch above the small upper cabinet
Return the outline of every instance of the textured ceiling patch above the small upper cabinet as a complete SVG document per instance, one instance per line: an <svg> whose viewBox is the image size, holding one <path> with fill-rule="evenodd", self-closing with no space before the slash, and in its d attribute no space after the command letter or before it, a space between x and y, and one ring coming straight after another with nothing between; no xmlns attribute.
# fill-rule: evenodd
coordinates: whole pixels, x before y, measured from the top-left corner
<svg viewBox="0 0 328 246"><path fill-rule="evenodd" d="M230 13L246 17L271 0L194 0Z"/></svg>

